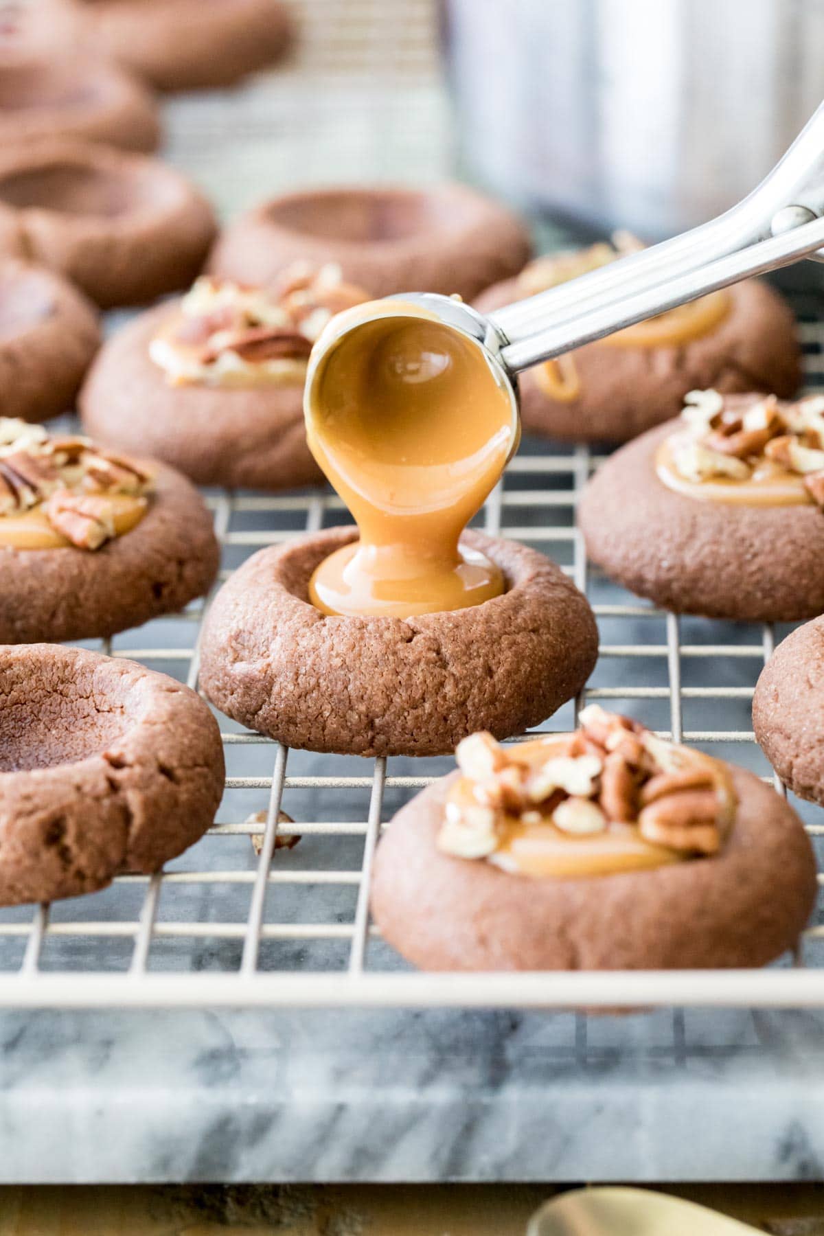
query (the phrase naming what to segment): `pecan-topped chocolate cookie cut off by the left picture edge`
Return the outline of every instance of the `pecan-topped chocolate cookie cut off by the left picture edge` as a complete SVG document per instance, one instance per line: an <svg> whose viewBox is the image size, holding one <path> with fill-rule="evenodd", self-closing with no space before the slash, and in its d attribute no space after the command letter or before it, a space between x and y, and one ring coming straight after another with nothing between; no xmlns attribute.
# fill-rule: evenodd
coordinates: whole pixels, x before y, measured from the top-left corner
<svg viewBox="0 0 824 1236"><path fill-rule="evenodd" d="M217 574L198 492L172 468L0 418L0 643L112 635Z"/></svg>

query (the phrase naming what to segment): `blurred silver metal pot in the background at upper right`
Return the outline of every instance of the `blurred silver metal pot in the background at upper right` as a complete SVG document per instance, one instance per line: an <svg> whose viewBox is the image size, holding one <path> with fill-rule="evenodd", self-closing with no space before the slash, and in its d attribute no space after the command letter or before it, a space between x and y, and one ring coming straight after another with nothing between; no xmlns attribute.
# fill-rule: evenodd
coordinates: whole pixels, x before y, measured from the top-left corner
<svg viewBox="0 0 824 1236"><path fill-rule="evenodd" d="M733 205L824 96L824 0L441 0L441 17L466 171L602 231L657 240Z"/></svg>

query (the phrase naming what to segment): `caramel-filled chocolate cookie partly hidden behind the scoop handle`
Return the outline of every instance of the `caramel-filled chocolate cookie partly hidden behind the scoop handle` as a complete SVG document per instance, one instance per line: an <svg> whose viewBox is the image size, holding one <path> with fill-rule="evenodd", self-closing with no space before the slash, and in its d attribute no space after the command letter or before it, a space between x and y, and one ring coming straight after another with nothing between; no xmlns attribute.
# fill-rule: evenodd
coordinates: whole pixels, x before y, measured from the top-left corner
<svg viewBox="0 0 824 1236"><path fill-rule="evenodd" d="M489 313L604 266L636 243L619 235L615 246L537 258L476 305ZM521 373L521 417L528 434L625 442L677 417L688 391L792 398L801 378L789 307L768 284L747 281Z"/></svg>

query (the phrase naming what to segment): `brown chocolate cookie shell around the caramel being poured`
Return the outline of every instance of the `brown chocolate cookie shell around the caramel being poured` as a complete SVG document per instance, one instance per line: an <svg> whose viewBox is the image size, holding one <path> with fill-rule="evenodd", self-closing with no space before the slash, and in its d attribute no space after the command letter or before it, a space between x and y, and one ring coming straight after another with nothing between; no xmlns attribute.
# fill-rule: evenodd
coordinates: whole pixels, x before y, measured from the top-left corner
<svg viewBox="0 0 824 1236"><path fill-rule="evenodd" d="M217 593L200 684L229 717L289 747L442 755L478 728L520 733L574 696L595 662L586 597L542 554L466 531L507 581L482 604L410 618L329 617L309 581L356 539L331 528L250 557Z"/></svg>

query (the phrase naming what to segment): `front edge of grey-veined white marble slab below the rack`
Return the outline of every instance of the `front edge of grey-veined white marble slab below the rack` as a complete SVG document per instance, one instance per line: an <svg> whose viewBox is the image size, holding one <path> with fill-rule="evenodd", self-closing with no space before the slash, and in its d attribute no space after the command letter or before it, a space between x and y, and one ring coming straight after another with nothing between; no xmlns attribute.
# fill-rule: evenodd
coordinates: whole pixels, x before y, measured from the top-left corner
<svg viewBox="0 0 824 1236"><path fill-rule="evenodd" d="M15 1014L0 1182L810 1180L824 1018Z"/></svg>

